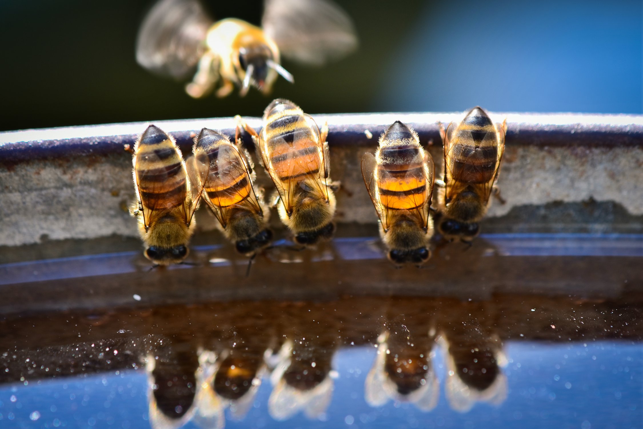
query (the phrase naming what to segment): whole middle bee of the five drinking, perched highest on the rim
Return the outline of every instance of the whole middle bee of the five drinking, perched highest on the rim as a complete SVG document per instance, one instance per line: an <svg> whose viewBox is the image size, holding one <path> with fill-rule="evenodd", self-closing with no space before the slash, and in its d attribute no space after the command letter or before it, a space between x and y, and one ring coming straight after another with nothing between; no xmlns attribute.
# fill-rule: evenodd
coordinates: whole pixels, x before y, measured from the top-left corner
<svg viewBox="0 0 643 429"><path fill-rule="evenodd" d="M281 98L266 107L263 121L259 134L239 117L237 127L252 136L275 183L279 217L298 244L330 239L336 208L331 186L338 184L329 185L328 124L320 130L298 105Z"/></svg>

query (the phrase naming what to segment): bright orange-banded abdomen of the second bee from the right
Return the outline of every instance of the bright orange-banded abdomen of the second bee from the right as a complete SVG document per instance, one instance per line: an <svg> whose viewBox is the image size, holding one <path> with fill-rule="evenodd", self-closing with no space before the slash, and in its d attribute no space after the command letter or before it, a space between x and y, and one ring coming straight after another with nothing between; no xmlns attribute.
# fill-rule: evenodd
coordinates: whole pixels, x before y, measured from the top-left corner
<svg viewBox="0 0 643 429"><path fill-rule="evenodd" d="M426 203L424 150L401 122L386 131L377 150L377 192L381 205L411 210Z"/></svg>

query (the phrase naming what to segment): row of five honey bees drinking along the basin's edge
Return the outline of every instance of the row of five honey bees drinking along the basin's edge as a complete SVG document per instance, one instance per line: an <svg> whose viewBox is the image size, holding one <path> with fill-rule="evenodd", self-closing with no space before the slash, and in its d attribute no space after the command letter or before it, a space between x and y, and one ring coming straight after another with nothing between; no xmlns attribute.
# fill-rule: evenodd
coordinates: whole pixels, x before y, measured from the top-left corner
<svg viewBox="0 0 643 429"><path fill-rule="evenodd" d="M276 193L272 206L302 248L330 239L335 226L330 178L328 124L318 127L309 114L284 99L268 105L256 132L237 116L234 143L228 136L202 129L193 154L184 160L174 138L150 125L134 146L134 185L145 256L157 265L181 263L194 233L194 212L201 200L219 221L221 231L239 253L253 258L272 239L267 228L269 206L255 185L254 165L241 144L245 130ZM361 170L379 217L388 259L396 266L421 266L431 257L433 223L446 239L464 242L478 235L505 146L506 122L493 123L480 107L460 123L441 127L444 172L435 178L429 152L417 133L399 121L379 138L375 154L367 153ZM439 189L437 208L431 207Z"/></svg>

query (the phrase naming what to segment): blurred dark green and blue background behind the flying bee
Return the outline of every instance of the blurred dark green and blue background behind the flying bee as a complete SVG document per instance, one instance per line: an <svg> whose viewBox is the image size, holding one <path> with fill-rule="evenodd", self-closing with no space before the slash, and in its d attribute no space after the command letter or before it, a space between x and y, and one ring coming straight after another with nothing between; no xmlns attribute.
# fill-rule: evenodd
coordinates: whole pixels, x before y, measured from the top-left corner
<svg viewBox="0 0 643 429"><path fill-rule="evenodd" d="M216 19L258 24L262 2L205 0ZM309 113L643 113L643 2L338 0L359 51L325 68L285 61L273 96ZM2 2L0 130L260 116L269 99L193 100L134 59L153 0Z"/></svg>

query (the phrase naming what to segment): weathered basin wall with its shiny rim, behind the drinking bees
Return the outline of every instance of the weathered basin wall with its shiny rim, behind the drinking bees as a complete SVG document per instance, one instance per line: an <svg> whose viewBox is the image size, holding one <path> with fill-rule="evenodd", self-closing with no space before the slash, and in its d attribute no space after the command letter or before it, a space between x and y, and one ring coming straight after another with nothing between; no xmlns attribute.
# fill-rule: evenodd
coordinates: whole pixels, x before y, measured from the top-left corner
<svg viewBox="0 0 643 429"><path fill-rule="evenodd" d="M359 161L374 151L379 134L395 120L410 123L442 169L439 122L463 113L382 113L313 115L329 123L331 175L347 192L338 194L340 223L374 223ZM489 217L521 206L582 201L612 202L633 216L643 214L643 116L596 114L491 113L507 117L507 147L498 183L505 205L494 203ZM260 119L247 118L260 127ZM202 127L233 134L232 118L156 121L172 133L184 154ZM0 245L19 246L43 238L136 235L127 206L134 198L131 154L149 122L0 133ZM246 143L251 144L246 136ZM266 174L258 183L271 192ZM513 219L513 218L512 218ZM276 215L273 215L276 220ZM520 223L520 219L514 219ZM212 230L212 217L199 210L197 224Z"/></svg>

